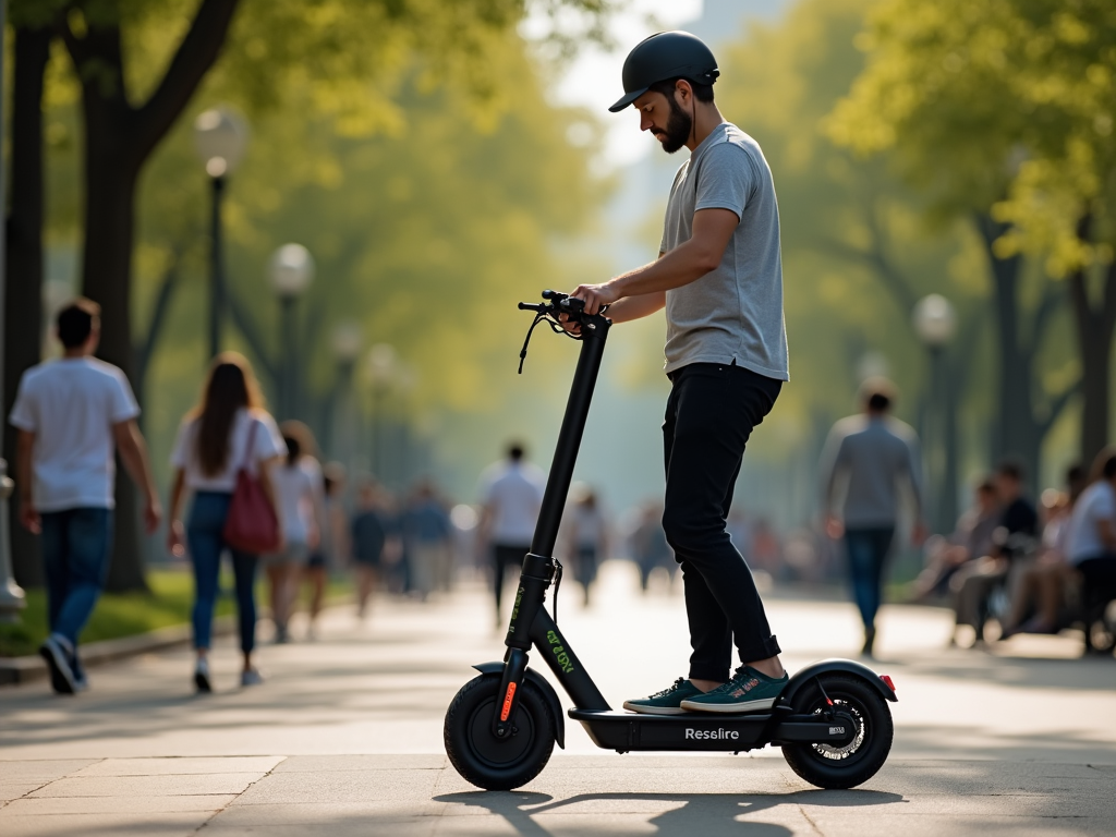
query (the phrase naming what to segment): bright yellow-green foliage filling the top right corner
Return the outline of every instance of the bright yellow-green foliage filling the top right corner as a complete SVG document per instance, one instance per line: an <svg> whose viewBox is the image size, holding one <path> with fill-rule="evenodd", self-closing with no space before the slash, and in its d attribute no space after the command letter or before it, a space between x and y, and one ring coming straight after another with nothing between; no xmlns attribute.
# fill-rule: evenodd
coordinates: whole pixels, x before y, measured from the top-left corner
<svg viewBox="0 0 1116 837"><path fill-rule="evenodd" d="M1055 276L1112 260L1116 6L886 0L869 20L838 143L894 150L939 211L994 208L1001 257L1045 253ZM1078 235L1086 214L1099 243Z"/></svg>

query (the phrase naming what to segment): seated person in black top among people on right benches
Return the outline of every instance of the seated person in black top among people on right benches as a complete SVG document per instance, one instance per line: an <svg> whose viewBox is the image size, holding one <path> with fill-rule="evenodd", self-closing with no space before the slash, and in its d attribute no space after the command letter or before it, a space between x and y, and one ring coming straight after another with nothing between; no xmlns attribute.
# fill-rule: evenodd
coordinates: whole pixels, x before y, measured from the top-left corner
<svg viewBox="0 0 1116 837"><path fill-rule="evenodd" d="M1024 560L1037 555L1039 535L1038 513L1023 497L1023 466L1006 460L997 466L993 480L1000 519L992 533L992 548L987 556L958 571L951 581L956 624L972 626L978 643L984 641L984 620L993 591L1007 588L1027 568ZM1003 622L1007 616L1002 614Z"/></svg>

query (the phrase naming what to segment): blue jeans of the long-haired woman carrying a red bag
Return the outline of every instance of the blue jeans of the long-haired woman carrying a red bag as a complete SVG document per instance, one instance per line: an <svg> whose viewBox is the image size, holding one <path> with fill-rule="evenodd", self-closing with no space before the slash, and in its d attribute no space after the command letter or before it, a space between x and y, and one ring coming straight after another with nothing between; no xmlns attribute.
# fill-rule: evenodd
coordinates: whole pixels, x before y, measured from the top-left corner
<svg viewBox="0 0 1116 837"><path fill-rule="evenodd" d="M222 491L199 491L194 494L186 521L186 547L194 565L194 647L212 647L213 606L217 604L218 579L224 542L224 521L229 517L232 494ZM240 619L240 650L246 654L256 647L256 567L258 557L230 549L232 576L237 588L237 614Z"/></svg>

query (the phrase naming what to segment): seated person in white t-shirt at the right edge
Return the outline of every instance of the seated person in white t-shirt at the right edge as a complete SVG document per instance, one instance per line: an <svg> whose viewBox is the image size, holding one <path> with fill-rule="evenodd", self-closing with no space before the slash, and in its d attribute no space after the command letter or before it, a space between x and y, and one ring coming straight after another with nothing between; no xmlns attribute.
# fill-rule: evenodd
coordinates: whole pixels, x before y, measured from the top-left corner
<svg viewBox="0 0 1116 837"><path fill-rule="evenodd" d="M1074 504L1066 558L1083 576L1086 602L1116 596L1116 449L1100 452Z"/></svg>

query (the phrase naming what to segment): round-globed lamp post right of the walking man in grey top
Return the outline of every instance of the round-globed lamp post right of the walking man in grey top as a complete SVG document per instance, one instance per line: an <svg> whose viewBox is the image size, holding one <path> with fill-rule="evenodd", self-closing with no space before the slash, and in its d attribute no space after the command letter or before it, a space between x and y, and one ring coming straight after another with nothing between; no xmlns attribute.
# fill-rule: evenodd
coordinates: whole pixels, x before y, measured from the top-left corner
<svg viewBox="0 0 1116 837"><path fill-rule="evenodd" d="M953 305L941 294L920 299L912 312L914 330L930 356L930 393L935 423L942 444L941 479L935 482L937 492L936 526L940 532L950 531L958 514L958 440L953 406L953 386L947 378L944 348L953 338L958 318ZM924 440L925 441L925 440ZM930 458L927 458L930 459Z"/></svg>

